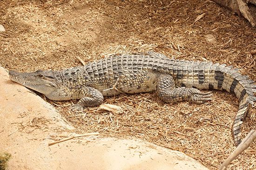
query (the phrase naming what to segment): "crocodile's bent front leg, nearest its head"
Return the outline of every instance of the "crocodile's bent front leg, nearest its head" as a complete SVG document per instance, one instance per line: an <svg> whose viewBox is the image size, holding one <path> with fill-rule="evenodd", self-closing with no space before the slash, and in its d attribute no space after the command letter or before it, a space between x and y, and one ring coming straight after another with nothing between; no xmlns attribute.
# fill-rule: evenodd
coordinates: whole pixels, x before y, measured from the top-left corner
<svg viewBox="0 0 256 170"><path fill-rule="evenodd" d="M74 112L82 112L86 107L96 107L101 105L104 100L101 92L95 88L82 87L77 96L80 100L71 107Z"/></svg>

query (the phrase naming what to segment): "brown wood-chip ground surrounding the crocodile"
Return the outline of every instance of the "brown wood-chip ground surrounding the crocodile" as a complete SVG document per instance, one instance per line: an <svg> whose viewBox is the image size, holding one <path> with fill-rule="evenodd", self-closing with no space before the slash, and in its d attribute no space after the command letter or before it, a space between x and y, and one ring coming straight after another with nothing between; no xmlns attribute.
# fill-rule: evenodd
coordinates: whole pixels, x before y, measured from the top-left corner
<svg viewBox="0 0 256 170"><path fill-rule="evenodd" d="M0 65L6 69L58 70L81 65L77 56L88 62L154 50L169 57L233 65L256 81L256 29L211 1L4 0L0 24L6 29L0 33ZM215 42L207 41L209 34ZM124 109L121 114L89 108L86 115L77 115L69 111L76 101L45 100L77 132L134 136L182 151L214 170L235 149L231 126L238 101L226 92L213 94L214 99L202 105L166 104L154 93L106 97L104 103ZM251 129L256 129L256 108L243 123L243 137ZM230 169L256 169L255 143Z"/></svg>

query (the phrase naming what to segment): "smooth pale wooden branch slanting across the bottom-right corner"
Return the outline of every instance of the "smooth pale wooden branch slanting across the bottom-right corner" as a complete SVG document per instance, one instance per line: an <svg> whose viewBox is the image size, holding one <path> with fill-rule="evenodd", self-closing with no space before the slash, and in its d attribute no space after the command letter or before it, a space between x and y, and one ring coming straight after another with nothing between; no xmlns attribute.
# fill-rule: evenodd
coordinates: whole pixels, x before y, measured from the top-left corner
<svg viewBox="0 0 256 170"><path fill-rule="evenodd" d="M219 170L226 170L228 165L240 154L242 153L246 148L249 147L249 145L256 139L256 130L251 130L245 139L241 142L240 145L236 148L235 151L233 151L229 157L224 161L224 163L220 166Z"/></svg>

